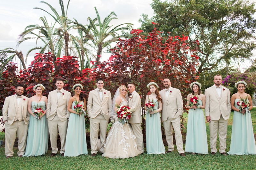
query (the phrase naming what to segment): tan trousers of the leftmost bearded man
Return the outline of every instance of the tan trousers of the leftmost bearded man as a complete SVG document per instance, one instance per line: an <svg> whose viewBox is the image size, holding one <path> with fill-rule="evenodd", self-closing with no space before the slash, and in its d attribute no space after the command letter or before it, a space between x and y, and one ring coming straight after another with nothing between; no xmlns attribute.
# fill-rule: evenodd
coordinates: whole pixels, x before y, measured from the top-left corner
<svg viewBox="0 0 256 170"><path fill-rule="evenodd" d="M33 117L34 118L34 117ZM28 134L28 124L25 124L24 121L14 121L12 125L8 124L8 121L5 122L5 155L13 156L13 144L17 137L18 148L17 152L18 156L22 156L25 153L25 148L27 144L27 134Z"/></svg>

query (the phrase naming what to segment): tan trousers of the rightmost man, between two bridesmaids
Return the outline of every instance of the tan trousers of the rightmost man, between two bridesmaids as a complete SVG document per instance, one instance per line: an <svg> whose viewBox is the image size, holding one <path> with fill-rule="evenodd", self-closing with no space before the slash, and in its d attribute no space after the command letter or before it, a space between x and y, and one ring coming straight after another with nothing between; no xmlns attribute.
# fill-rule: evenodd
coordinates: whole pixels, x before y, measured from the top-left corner
<svg viewBox="0 0 256 170"><path fill-rule="evenodd" d="M209 123L210 128L210 144L211 144L211 152L217 152L216 144L217 144L217 133L219 129L219 140L220 140L220 153L226 152L227 149L226 140L227 140L227 128L228 128L228 120L224 120L222 115L220 115L220 120L211 121Z"/></svg>

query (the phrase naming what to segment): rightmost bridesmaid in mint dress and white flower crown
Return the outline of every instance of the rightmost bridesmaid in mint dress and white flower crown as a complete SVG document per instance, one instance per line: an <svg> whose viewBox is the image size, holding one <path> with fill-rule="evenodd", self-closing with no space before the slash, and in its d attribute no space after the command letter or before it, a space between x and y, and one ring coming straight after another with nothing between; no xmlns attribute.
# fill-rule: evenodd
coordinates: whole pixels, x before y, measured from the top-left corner
<svg viewBox="0 0 256 170"><path fill-rule="evenodd" d="M252 98L244 92L247 84L244 81L239 81L235 84L238 92L231 97L231 108L234 110L232 134L229 155L248 155L256 154L255 139L252 129L252 118L249 110L252 109ZM239 112L239 107L236 105L241 98L248 97L250 102L249 109L242 109ZM244 114L244 115L243 115Z"/></svg>

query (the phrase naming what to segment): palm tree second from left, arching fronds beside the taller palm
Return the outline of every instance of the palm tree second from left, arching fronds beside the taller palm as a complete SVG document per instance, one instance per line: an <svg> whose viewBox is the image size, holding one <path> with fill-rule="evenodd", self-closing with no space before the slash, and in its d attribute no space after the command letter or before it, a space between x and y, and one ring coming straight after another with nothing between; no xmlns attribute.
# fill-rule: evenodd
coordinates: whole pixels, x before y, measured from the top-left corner
<svg viewBox="0 0 256 170"><path fill-rule="evenodd" d="M36 45L37 41L41 40L44 42L44 46L36 46L35 48L31 48L28 50L25 62L27 62L27 58L29 53L31 53L33 50L40 49L39 53L44 53L45 50L50 51L53 54L53 61L56 61L56 53L55 53L55 44L57 42L57 36L56 33L54 33L54 25L49 26L47 19L44 17L40 17L39 20L43 22L43 26L39 25L29 25L25 28L25 30L19 35L17 46L19 46L23 41L30 40L30 39L36 39ZM35 30L38 30L38 33L34 33ZM26 37L26 35L33 35L33 37Z"/></svg>

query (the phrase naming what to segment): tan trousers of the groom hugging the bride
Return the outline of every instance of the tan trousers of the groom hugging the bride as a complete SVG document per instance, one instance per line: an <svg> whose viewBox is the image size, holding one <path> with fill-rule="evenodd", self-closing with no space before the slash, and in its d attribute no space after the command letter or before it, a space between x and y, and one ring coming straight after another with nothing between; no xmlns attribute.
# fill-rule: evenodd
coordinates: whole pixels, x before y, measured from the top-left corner
<svg viewBox="0 0 256 170"><path fill-rule="evenodd" d="M143 134L141 129L141 123L130 123L134 136L138 143L138 149L141 153L144 153Z"/></svg>

